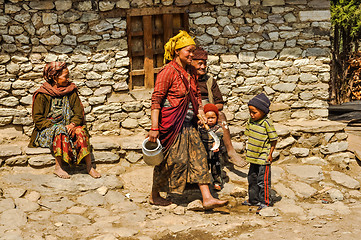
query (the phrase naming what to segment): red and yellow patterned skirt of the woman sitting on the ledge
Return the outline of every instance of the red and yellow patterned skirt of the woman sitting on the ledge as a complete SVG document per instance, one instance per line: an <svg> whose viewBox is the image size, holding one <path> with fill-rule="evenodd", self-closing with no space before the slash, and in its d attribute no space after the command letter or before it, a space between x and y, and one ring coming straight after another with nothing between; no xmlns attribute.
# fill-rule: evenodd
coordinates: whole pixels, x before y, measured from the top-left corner
<svg viewBox="0 0 361 240"><path fill-rule="evenodd" d="M74 137L70 137L64 125L53 125L39 132L35 143L50 148L54 157L61 157L69 165L79 164L91 152L85 126L75 127Z"/></svg>

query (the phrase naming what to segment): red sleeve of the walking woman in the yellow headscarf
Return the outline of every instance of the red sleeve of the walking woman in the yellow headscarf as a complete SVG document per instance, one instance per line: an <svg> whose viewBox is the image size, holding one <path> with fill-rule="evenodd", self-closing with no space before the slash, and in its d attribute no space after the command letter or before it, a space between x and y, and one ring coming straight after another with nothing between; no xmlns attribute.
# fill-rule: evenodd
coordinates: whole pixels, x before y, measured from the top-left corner
<svg viewBox="0 0 361 240"><path fill-rule="evenodd" d="M163 99L167 96L168 90L172 85L174 78L174 70L165 66L157 74L155 81L154 92L152 94L152 107L151 109L160 109Z"/></svg>

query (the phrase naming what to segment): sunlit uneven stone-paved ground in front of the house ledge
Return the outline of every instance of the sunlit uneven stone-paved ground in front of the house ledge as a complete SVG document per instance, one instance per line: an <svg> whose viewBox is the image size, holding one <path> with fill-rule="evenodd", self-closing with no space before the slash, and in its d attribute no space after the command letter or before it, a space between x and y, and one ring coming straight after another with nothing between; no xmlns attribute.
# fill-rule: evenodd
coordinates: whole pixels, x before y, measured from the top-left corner
<svg viewBox="0 0 361 240"><path fill-rule="evenodd" d="M100 164L101 179L79 167L71 179L52 168L0 168L0 239L359 239L359 166L275 163L274 207L241 206L247 169L226 169L218 195L225 208L203 211L189 189L168 207L149 205L152 168L142 162ZM217 195L217 193L214 193Z"/></svg>

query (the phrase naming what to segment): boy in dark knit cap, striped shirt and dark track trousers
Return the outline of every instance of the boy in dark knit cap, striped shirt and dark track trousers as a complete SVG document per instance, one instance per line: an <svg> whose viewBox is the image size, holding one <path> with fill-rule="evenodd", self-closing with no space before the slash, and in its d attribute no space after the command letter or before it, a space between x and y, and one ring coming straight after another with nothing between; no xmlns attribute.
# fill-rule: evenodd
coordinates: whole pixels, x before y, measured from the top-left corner
<svg viewBox="0 0 361 240"><path fill-rule="evenodd" d="M272 153L277 143L277 133L272 121L267 117L270 100L258 94L248 102L251 118L248 120L245 135L248 136L246 161L250 163L248 172L248 197L243 205L270 205Z"/></svg>

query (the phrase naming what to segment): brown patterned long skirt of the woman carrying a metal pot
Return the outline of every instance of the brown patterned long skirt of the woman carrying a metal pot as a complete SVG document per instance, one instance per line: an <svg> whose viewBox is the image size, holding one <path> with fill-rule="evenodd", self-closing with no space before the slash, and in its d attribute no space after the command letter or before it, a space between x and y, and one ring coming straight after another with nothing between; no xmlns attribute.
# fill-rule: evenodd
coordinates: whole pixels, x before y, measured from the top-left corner
<svg viewBox="0 0 361 240"><path fill-rule="evenodd" d="M210 182L207 153L199 132L193 126L183 125L172 146L164 153L163 162L154 167L153 189L181 194L187 183Z"/></svg>

